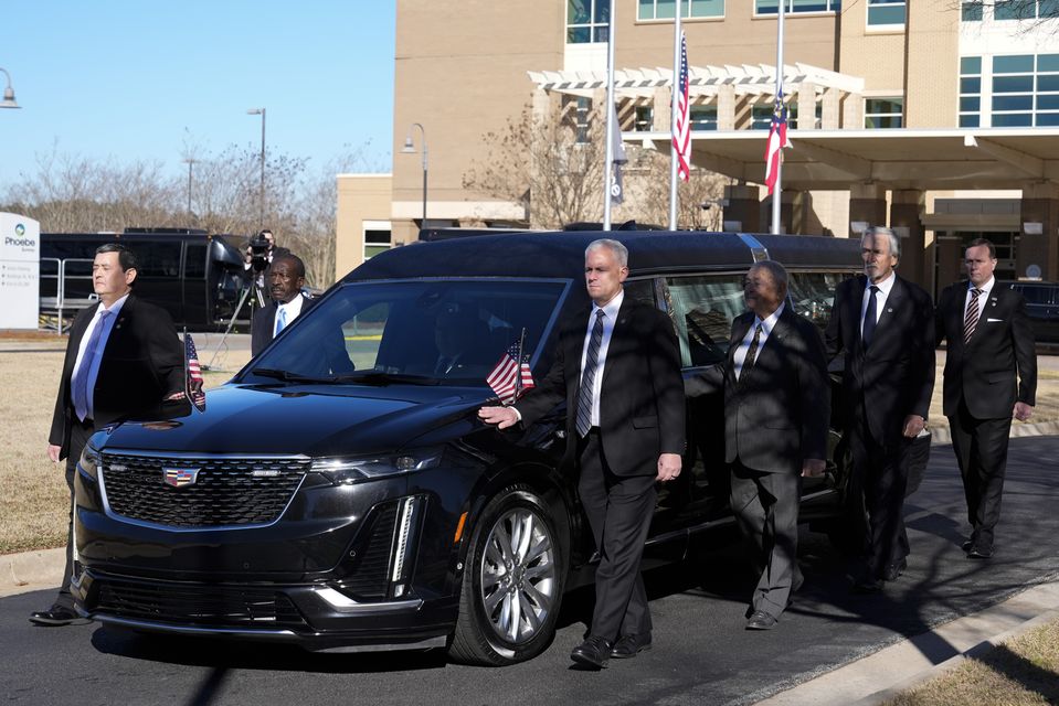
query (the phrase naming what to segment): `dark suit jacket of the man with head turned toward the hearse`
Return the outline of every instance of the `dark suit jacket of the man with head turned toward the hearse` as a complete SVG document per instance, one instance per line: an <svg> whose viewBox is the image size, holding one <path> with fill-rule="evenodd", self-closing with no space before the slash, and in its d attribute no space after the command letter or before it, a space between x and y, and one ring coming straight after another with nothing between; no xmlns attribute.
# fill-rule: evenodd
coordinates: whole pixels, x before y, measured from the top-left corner
<svg viewBox="0 0 1059 706"><path fill-rule="evenodd" d="M819 330L784 307L749 371L735 378L735 350L754 324L732 322L724 363L724 460L767 473L801 473L805 459L827 458L830 385Z"/></svg>

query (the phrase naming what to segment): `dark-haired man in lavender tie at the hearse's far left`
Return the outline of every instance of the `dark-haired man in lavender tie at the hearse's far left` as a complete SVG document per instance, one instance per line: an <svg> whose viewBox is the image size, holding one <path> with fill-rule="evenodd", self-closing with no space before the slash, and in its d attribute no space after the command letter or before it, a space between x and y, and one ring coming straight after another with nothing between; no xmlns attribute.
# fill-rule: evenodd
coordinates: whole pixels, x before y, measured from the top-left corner
<svg viewBox="0 0 1059 706"><path fill-rule="evenodd" d="M156 409L163 399L184 397L183 346L165 309L131 293L136 259L123 245L96 249L92 285L99 303L77 314L70 328L55 414L47 437L47 458L66 459L70 525L66 567L55 603L30 621L42 625L81 622L74 612L74 474L85 443L96 429L121 418Z"/></svg>

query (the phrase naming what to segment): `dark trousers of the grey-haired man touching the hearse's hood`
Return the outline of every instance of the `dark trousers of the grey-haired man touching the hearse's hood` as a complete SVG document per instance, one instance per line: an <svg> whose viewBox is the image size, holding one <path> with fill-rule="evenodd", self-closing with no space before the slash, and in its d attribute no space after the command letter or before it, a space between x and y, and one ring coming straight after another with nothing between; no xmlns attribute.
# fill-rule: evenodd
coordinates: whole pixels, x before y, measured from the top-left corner
<svg viewBox="0 0 1059 706"><path fill-rule="evenodd" d="M655 512L655 473L612 473L596 430L579 441L578 452L578 492L600 550L595 609L589 632L611 641L650 632L650 610L639 561Z"/></svg>

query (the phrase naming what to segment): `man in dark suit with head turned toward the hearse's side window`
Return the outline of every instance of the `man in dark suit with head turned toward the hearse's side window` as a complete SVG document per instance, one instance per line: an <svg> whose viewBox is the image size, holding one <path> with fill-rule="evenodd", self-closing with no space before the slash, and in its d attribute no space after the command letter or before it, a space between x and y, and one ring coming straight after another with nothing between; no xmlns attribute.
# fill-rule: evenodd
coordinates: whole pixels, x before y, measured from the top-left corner
<svg viewBox="0 0 1059 706"><path fill-rule="evenodd" d="M724 388L724 461L731 504L753 545L758 587L748 630L770 630L802 585L798 504L802 477L824 473L830 394L820 332L788 307L787 272L754 264L743 280L750 311L732 322L728 360L700 391ZM689 394L697 394L689 382Z"/></svg>

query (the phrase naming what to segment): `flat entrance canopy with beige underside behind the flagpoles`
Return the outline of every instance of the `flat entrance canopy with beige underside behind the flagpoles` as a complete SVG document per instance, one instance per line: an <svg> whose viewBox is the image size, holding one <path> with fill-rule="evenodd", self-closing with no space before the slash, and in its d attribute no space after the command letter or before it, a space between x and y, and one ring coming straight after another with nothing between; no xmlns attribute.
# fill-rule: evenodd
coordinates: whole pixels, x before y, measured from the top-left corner
<svg viewBox="0 0 1059 706"><path fill-rule="evenodd" d="M938 130L791 130L783 186L798 191L1020 189L1059 183L1059 128ZM631 143L668 151L669 132L624 132ZM764 183L765 130L691 133L692 163Z"/></svg>

